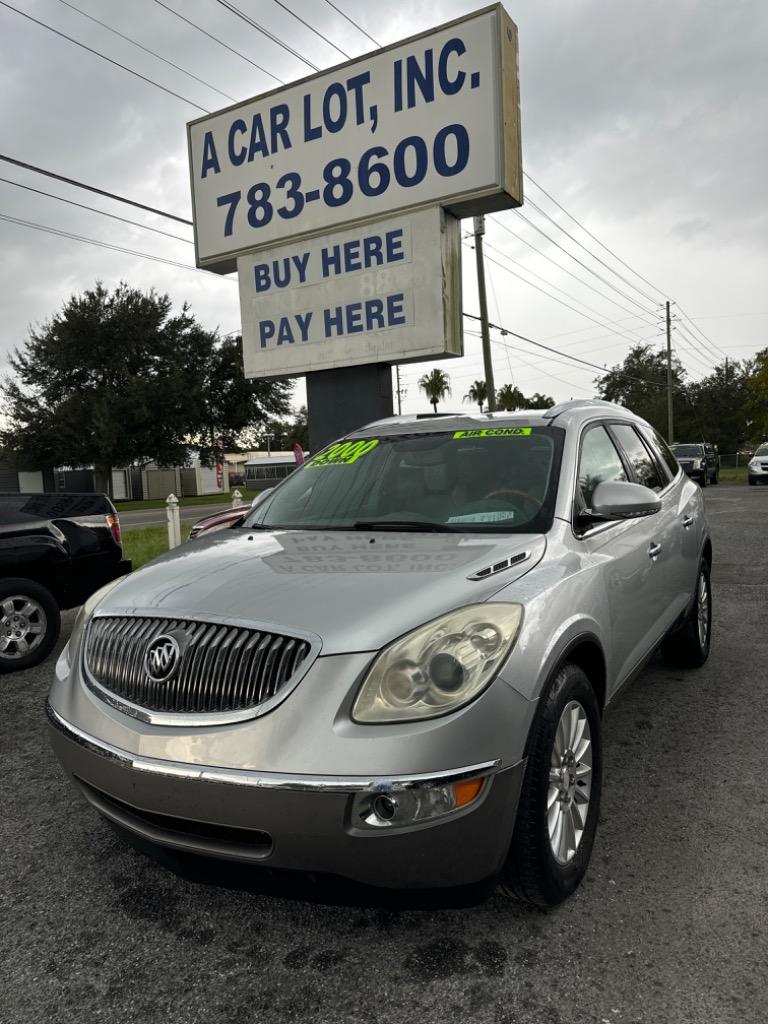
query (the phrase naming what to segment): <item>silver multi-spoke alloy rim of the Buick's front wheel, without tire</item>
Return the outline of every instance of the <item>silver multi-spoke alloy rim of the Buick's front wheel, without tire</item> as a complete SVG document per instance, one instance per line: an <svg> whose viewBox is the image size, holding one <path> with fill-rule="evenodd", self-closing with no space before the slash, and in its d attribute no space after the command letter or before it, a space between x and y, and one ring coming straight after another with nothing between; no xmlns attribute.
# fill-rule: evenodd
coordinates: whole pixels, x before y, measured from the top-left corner
<svg viewBox="0 0 768 1024"><path fill-rule="evenodd" d="M592 790L592 732L578 700L563 708L555 731L547 791L547 830L558 864L569 863L584 836Z"/></svg>

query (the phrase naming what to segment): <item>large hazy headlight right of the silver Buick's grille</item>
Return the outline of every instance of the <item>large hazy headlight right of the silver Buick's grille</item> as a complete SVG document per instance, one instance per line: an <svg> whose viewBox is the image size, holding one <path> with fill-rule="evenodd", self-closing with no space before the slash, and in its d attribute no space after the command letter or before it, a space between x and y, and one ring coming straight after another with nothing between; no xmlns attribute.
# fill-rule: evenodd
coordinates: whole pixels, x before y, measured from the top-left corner
<svg viewBox="0 0 768 1024"><path fill-rule="evenodd" d="M414 722L469 703L496 677L517 639L520 604L471 604L386 647L352 707L355 722Z"/></svg>

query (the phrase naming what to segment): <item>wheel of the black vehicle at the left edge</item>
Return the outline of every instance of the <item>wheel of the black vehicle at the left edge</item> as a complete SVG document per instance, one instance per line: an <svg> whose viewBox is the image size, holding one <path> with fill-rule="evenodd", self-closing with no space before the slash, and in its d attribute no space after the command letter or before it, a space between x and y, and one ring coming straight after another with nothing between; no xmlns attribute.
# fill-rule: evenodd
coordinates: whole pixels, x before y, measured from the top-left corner
<svg viewBox="0 0 768 1024"><path fill-rule="evenodd" d="M0 581L0 673L39 665L58 639L53 595L32 580Z"/></svg>

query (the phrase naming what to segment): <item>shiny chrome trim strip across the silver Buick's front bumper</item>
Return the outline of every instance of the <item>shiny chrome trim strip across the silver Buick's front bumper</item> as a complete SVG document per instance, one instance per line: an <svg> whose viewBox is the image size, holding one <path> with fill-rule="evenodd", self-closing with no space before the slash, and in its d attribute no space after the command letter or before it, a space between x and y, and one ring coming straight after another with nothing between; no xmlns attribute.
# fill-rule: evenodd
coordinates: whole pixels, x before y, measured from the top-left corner
<svg viewBox="0 0 768 1024"><path fill-rule="evenodd" d="M466 768L450 771L428 772L416 775L282 775L275 772L241 770L238 768L214 768L206 765L182 764L177 761L163 761L131 754L95 736L83 732L63 719L46 700L45 711L51 726L68 739L85 748L92 754L119 764L133 771L168 778L180 778L194 782L216 782L224 785L243 785L259 790L298 791L305 793L362 793L377 790L412 790L422 786L445 785L467 778L483 778L495 774L501 768L501 759L484 761Z"/></svg>

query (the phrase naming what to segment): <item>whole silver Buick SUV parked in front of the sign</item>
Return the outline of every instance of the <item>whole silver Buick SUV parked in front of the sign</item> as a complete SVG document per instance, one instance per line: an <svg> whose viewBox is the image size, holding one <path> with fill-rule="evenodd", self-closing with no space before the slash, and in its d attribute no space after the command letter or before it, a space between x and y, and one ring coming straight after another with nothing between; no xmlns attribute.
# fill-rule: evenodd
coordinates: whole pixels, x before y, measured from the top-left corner
<svg viewBox="0 0 768 1024"><path fill-rule="evenodd" d="M699 487L625 409L384 420L92 598L53 745L156 846L552 905L603 710L659 645L707 659L711 562Z"/></svg>

